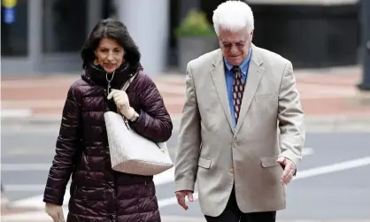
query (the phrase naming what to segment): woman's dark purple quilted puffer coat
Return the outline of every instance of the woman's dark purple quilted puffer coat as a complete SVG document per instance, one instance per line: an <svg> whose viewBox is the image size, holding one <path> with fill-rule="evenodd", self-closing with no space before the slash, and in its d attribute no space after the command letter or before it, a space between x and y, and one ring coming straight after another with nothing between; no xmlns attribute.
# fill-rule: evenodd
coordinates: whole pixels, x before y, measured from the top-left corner
<svg viewBox="0 0 370 222"><path fill-rule="evenodd" d="M43 202L62 205L72 175L67 222L159 222L152 176L112 171L104 111L117 108L107 100L108 82L99 67L89 65L69 88ZM131 74L127 70L115 72L112 88L123 86ZM142 69L138 72L127 88L130 105L139 113L131 127L153 142L166 142L171 118L154 82Z"/></svg>

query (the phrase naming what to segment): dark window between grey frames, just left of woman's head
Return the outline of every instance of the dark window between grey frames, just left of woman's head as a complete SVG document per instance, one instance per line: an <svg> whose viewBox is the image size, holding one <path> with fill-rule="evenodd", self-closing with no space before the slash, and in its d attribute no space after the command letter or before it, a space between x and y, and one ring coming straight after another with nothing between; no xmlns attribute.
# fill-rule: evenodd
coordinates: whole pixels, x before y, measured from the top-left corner
<svg viewBox="0 0 370 222"><path fill-rule="evenodd" d="M42 11L42 51L81 50L87 37L87 0L43 0Z"/></svg>

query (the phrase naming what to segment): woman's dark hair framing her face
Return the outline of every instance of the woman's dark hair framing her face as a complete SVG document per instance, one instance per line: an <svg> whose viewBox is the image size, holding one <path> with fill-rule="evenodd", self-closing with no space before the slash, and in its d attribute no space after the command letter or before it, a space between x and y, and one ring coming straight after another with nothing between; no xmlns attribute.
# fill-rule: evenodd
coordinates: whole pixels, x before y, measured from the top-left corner
<svg viewBox="0 0 370 222"><path fill-rule="evenodd" d="M81 50L83 68L86 68L95 60L94 51L103 38L110 38L117 41L125 50L124 57L130 65L130 69L137 70L141 57L139 48L128 33L127 27L115 19L103 19L92 29Z"/></svg>

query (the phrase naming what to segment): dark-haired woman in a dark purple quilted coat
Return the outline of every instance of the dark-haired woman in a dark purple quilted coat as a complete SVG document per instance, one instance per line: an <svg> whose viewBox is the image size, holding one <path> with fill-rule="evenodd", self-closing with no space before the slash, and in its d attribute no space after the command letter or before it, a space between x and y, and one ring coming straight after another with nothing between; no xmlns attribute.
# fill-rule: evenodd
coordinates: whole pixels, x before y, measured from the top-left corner
<svg viewBox="0 0 370 222"><path fill-rule="evenodd" d="M89 34L81 79L68 91L43 202L54 221L72 173L67 222L160 221L152 176L112 170L105 111L119 111L136 133L166 142L173 129L158 88L143 73L140 52L119 21L104 19ZM127 91L124 83L138 73Z"/></svg>

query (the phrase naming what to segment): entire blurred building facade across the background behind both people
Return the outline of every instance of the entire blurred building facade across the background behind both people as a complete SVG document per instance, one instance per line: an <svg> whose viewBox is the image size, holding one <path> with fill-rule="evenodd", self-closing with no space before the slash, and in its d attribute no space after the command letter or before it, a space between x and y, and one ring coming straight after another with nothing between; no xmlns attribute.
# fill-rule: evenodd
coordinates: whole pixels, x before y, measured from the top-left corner
<svg viewBox="0 0 370 222"><path fill-rule="evenodd" d="M152 74L177 65L173 30L197 8L212 21L223 0L18 0L14 21L1 22L3 75L80 72L80 50L96 21L122 20ZM246 0L255 14L254 42L297 67L358 62L358 1ZM32 3L32 4L31 4ZM4 7L2 6L2 12Z"/></svg>

